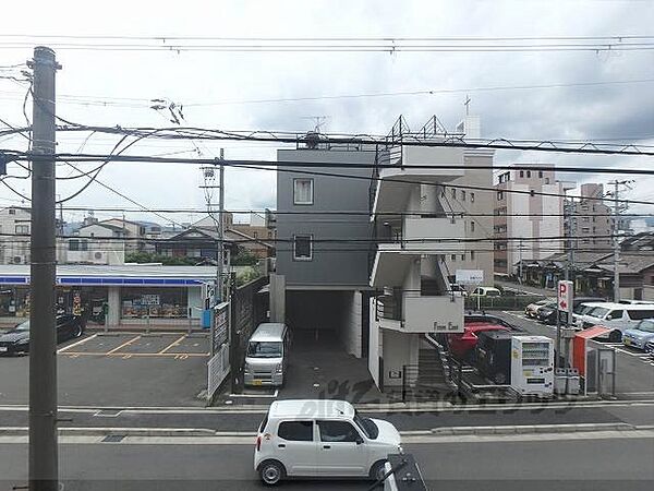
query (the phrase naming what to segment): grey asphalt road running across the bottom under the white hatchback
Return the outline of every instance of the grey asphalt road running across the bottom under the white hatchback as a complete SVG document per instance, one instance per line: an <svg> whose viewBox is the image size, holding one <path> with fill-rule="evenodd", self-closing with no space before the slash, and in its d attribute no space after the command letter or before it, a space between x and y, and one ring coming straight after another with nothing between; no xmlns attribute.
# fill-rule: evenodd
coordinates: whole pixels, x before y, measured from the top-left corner
<svg viewBox="0 0 654 491"><path fill-rule="evenodd" d="M429 489L650 490L653 438L520 440L405 445ZM25 482L26 445L0 443L1 489ZM256 490L252 444L62 444L63 490ZM281 489L365 490L364 481L294 481Z"/></svg>

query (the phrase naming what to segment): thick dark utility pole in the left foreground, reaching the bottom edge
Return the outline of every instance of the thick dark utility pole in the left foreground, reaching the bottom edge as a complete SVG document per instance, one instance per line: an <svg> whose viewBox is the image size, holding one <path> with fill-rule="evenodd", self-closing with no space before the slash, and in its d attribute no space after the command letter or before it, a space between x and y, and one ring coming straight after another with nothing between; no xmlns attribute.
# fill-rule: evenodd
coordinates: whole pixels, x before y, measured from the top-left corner
<svg viewBox="0 0 654 491"><path fill-rule="evenodd" d="M34 48L29 309L29 490L58 491L55 51Z"/></svg>

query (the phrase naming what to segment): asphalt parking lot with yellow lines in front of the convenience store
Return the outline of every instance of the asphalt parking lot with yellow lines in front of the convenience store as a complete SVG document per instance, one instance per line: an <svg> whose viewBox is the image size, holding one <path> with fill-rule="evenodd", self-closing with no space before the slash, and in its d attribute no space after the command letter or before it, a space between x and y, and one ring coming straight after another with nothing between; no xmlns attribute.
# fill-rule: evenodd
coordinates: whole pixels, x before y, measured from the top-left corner
<svg viewBox="0 0 654 491"><path fill-rule="evenodd" d="M203 406L207 333L98 333L59 345L62 406ZM27 404L28 357L0 358L0 404Z"/></svg>

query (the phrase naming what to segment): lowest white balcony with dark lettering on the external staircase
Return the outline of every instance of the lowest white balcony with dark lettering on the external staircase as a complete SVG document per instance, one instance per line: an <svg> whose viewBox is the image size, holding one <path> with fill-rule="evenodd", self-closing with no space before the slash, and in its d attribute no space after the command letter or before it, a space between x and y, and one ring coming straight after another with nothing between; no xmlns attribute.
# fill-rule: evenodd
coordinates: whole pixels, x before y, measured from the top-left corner
<svg viewBox="0 0 654 491"><path fill-rule="evenodd" d="M462 333L463 297L427 297L396 289L376 299L375 321L402 333Z"/></svg>

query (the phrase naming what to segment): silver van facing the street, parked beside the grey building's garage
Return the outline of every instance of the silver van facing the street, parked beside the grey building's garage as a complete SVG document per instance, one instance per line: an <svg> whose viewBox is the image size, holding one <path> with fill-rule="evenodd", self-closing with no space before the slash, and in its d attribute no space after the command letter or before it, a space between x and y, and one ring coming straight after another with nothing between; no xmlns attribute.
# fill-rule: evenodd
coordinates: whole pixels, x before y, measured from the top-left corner
<svg viewBox="0 0 654 491"><path fill-rule="evenodd" d="M245 385L283 385L290 348L289 330L281 323L259 324L245 351Z"/></svg>

